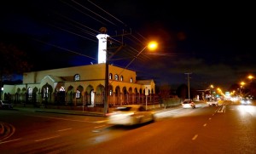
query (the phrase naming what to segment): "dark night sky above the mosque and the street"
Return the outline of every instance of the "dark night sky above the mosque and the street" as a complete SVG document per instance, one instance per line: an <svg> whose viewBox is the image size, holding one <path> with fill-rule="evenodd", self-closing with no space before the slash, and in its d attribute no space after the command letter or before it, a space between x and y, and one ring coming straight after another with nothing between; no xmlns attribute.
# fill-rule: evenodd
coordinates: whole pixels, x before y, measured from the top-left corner
<svg viewBox="0 0 256 154"><path fill-rule="evenodd" d="M110 60L116 66L158 41L154 54L145 51L127 67L156 83L187 84L189 72L192 87L228 89L256 73L253 3L3 0L0 13L0 42L25 51L32 71L96 63L96 35L104 26L110 54L123 40Z"/></svg>

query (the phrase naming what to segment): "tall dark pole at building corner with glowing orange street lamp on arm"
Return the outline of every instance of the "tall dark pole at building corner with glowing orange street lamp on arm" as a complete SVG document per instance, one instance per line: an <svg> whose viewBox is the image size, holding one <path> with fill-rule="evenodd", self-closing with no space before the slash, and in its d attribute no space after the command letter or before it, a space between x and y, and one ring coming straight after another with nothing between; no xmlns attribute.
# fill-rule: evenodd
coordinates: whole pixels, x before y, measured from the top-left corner
<svg viewBox="0 0 256 154"><path fill-rule="evenodd" d="M134 58L130 61L130 63L125 66L124 70L131 65L131 63L137 59L137 57L142 54L142 52L148 48L150 50L154 50L155 48L158 47L158 43L152 41L149 42ZM104 94L104 115L108 113L108 49L106 50L106 72L105 72L105 94Z"/></svg>

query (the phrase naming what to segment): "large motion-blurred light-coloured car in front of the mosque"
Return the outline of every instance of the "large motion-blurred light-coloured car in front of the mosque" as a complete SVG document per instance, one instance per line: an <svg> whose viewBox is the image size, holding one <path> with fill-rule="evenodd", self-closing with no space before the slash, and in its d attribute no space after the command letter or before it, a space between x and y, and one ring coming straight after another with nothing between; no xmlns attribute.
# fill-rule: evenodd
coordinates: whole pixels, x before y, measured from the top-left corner
<svg viewBox="0 0 256 154"><path fill-rule="evenodd" d="M131 105L118 106L107 114L108 124L114 125L136 125L140 123L154 122L154 111L146 110L145 106Z"/></svg>

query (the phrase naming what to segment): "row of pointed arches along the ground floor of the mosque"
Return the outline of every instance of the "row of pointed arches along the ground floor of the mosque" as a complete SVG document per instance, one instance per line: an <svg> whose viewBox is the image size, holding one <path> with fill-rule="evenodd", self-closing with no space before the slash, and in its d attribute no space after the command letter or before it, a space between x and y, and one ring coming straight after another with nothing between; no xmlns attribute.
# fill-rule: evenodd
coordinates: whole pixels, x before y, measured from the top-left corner
<svg viewBox="0 0 256 154"><path fill-rule="evenodd" d="M95 90L96 89L96 90ZM145 89L126 88L112 85L108 87L108 105L131 105L140 104L145 101ZM103 106L104 102L104 86L102 84L96 86L89 85L83 87L73 87L70 85L65 88L63 86L52 88L48 83L44 84L42 88L28 87L17 88L15 94L4 94L5 100L14 100L15 102L26 103L40 103L40 104L53 104L53 105L70 105L70 106ZM148 103L159 103L158 96L154 92L149 91Z"/></svg>

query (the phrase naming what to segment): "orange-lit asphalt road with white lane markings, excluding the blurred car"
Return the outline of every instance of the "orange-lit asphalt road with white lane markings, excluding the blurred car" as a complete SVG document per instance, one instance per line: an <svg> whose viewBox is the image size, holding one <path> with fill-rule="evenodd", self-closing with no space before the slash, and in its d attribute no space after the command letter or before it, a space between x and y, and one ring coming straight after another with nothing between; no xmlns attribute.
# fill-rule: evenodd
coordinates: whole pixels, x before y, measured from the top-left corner
<svg viewBox="0 0 256 154"><path fill-rule="evenodd" d="M154 123L106 124L105 117L1 111L1 153L255 153L255 106L176 108Z"/></svg>

